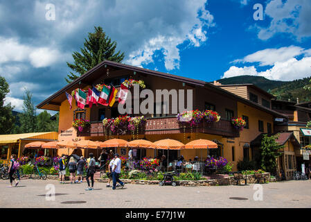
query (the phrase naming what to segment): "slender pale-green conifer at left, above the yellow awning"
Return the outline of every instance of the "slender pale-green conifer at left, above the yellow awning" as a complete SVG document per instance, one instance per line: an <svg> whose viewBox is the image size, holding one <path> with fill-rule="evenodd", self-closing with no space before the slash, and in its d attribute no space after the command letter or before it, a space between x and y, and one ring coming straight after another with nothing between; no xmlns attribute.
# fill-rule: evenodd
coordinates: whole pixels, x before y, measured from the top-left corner
<svg viewBox="0 0 311 222"><path fill-rule="evenodd" d="M36 109L33 103L33 94L26 89L23 96L23 113L19 116L21 123L21 133L33 133L36 132Z"/></svg>

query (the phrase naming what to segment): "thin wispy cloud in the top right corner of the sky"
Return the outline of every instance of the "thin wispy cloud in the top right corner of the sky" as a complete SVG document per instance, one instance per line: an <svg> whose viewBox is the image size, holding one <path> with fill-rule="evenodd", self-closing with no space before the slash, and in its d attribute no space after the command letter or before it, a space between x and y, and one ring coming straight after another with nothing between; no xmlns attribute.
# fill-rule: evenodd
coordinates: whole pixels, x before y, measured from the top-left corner
<svg viewBox="0 0 311 222"><path fill-rule="evenodd" d="M311 5L309 0L272 0L267 3L265 16L269 26L256 26L260 40L267 40L276 33L290 33L297 40L311 36Z"/></svg>

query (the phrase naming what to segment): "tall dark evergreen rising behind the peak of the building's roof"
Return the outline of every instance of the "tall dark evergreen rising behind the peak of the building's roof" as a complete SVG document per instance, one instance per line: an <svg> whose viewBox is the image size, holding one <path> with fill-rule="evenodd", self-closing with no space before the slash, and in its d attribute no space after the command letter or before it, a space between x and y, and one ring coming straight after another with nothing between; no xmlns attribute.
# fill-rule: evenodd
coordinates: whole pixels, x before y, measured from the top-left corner
<svg viewBox="0 0 311 222"><path fill-rule="evenodd" d="M79 76L85 74L86 71L98 65L98 63L103 62L103 60L110 60L114 62L121 62L124 58L124 53L121 51L116 51L116 41L110 39L103 32L103 28L98 26L94 27L95 32L89 33L89 39L85 39L84 48L80 49L81 53L74 51L72 56L74 64L67 62L67 65L75 71L77 74L67 75L65 78L67 83L71 83L73 80Z"/></svg>

